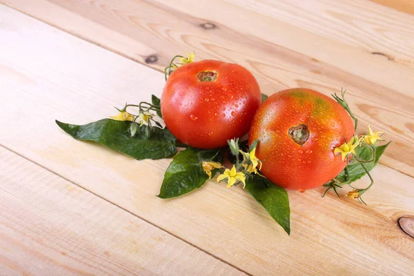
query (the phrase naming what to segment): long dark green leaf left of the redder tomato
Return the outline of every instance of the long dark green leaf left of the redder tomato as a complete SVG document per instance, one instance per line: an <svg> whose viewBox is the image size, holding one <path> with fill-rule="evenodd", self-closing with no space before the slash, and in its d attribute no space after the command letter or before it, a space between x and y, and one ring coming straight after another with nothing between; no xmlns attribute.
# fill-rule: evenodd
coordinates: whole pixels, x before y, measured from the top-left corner
<svg viewBox="0 0 414 276"><path fill-rule="evenodd" d="M95 141L137 160L161 159L177 152L176 139L167 128L139 127L132 121L112 119L102 119L83 126L64 124L60 121L56 121L56 124L75 139ZM131 124L137 125L134 137L130 134Z"/></svg>

